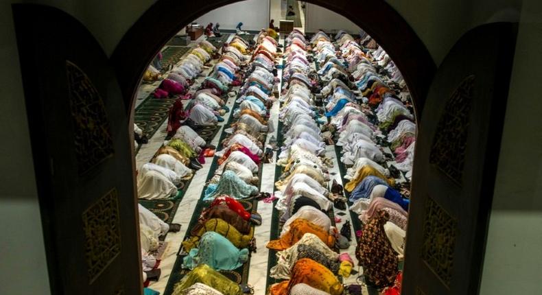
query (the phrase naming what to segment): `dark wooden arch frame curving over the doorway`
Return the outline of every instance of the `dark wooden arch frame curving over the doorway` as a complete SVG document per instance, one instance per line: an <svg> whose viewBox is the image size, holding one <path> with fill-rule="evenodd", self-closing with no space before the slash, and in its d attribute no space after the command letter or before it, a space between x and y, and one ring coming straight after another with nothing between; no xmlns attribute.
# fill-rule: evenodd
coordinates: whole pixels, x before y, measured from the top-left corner
<svg viewBox="0 0 542 295"><path fill-rule="evenodd" d="M177 32L199 16L241 0L158 0L130 27L111 61L123 91L126 113L134 106L137 86L158 51ZM401 70L419 121L436 65L429 51L391 5L382 0L308 0L342 14L375 38Z"/></svg>

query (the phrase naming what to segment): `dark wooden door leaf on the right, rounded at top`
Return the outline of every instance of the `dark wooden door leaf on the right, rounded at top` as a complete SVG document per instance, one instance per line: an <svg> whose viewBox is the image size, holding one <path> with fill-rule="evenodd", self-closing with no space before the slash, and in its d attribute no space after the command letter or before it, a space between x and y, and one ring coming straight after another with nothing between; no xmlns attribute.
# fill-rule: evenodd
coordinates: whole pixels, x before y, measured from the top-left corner
<svg viewBox="0 0 542 295"><path fill-rule="evenodd" d="M437 70L416 141L403 294L478 294L517 26L482 25Z"/></svg>

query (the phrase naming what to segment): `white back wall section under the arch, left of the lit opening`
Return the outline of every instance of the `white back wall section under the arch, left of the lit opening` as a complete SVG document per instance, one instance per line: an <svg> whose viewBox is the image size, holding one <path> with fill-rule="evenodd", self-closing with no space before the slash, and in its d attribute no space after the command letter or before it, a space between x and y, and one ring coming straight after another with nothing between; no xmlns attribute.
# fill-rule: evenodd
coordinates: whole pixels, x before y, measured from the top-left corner
<svg viewBox="0 0 542 295"><path fill-rule="evenodd" d="M243 23L243 30L259 31L269 25L270 0L246 0L211 10L200 16L196 22L206 26L220 23L221 29L235 29ZM278 25L278 22L276 22Z"/></svg>

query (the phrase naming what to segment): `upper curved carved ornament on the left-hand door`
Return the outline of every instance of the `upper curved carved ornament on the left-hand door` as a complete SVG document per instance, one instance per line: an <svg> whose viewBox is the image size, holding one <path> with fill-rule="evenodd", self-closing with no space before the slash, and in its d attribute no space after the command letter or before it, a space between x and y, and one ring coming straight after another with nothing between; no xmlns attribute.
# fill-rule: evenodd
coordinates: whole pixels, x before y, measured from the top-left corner
<svg viewBox="0 0 542 295"><path fill-rule="evenodd" d="M82 175L113 154L113 139L104 102L89 77L68 60L66 73L75 156Z"/></svg>

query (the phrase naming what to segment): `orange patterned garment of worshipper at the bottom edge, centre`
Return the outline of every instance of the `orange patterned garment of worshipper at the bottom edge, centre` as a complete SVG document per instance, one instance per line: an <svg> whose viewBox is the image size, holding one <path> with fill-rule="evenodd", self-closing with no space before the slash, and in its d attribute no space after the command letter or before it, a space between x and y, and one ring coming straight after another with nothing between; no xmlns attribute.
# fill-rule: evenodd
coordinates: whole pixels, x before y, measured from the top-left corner
<svg viewBox="0 0 542 295"><path fill-rule="evenodd" d="M337 276L335 276L333 272L314 260L303 258L299 259L292 269L292 277L290 278L290 281L283 281L281 283L272 285L270 288L270 294L290 294L292 287L298 283L306 283L311 287L327 292L331 295L340 295L344 291L341 282L337 279Z"/></svg>

